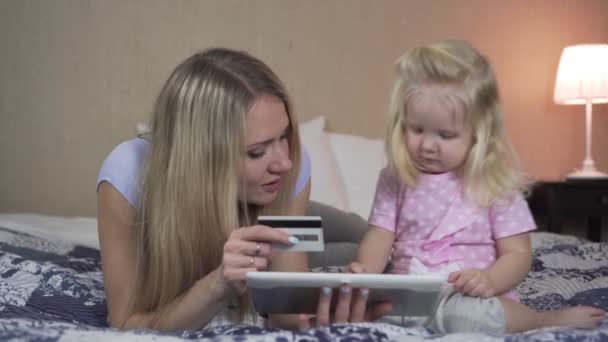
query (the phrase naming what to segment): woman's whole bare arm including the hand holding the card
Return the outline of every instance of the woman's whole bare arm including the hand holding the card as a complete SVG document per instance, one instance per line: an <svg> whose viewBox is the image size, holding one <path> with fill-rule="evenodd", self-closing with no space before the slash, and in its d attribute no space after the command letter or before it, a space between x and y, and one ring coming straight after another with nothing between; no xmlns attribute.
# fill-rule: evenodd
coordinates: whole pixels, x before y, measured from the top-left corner
<svg viewBox="0 0 608 342"><path fill-rule="evenodd" d="M235 295L245 289L245 274L266 269L270 243L289 245L289 234L268 227L236 229L224 244L222 265L164 307L135 312L137 283L136 210L110 183L97 192L98 232L110 325L120 328L184 330L204 327ZM249 260L257 241L262 252ZM155 319L159 318L159 319Z"/></svg>

